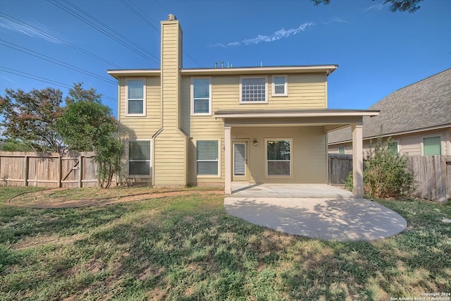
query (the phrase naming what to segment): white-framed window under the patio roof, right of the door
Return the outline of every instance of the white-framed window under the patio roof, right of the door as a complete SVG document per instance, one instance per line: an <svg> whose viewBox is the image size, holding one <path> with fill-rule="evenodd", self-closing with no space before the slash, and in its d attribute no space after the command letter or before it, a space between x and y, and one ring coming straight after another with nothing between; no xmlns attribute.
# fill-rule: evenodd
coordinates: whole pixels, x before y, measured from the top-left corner
<svg viewBox="0 0 451 301"><path fill-rule="evenodd" d="M291 176L291 139L266 140L266 175Z"/></svg>

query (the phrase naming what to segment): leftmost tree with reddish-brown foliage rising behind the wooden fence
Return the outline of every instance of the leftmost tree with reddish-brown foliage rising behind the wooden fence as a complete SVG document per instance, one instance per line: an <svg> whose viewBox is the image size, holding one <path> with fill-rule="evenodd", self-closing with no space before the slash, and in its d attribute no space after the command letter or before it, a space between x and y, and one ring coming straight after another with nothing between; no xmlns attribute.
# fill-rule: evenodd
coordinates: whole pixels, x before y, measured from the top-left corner
<svg viewBox="0 0 451 301"><path fill-rule="evenodd" d="M59 152L61 137L56 121L62 113L63 93L50 87L27 93L20 89L5 91L5 96L0 96L2 135L18 139L37 152Z"/></svg>

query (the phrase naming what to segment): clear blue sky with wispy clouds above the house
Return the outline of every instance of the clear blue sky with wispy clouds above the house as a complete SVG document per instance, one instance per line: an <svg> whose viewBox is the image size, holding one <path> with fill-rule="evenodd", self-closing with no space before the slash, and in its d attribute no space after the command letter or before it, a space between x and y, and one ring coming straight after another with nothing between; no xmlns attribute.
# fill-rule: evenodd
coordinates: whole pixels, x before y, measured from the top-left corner
<svg viewBox="0 0 451 301"><path fill-rule="evenodd" d="M117 85L106 70L159 68L160 20L173 13L183 28L185 68L338 64L328 78L328 107L367 109L451 68L450 0L424 0L415 13L382 4L0 0L0 94L44 87L66 94L84 82L117 115Z"/></svg>

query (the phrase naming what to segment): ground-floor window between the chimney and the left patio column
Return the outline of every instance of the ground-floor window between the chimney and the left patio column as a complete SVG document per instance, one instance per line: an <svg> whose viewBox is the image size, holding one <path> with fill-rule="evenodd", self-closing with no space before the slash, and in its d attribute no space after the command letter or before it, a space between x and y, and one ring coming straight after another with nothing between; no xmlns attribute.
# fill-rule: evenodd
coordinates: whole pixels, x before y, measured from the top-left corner
<svg viewBox="0 0 451 301"><path fill-rule="evenodd" d="M196 143L197 176L219 175L219 142L218 140L199 140Z"/></svg>

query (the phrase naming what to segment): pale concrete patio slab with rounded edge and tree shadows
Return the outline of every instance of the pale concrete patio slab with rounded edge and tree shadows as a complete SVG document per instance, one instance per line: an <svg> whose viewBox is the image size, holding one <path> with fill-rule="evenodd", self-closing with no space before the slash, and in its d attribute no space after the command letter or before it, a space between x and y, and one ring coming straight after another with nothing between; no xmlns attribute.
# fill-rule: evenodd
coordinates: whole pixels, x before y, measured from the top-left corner
<svg viewBox="0 0 451 301"><path fill-rule="evenodd" d="M300 189L302 186L304 190ZM261 190L249 192L258 187ZM318 190L321 186L316 190L308 190L305 185L290 185L289 190L280 185L267 187L266 184L249 186L248 190L233 187L233 194L224 200L226 211L250 223L322 240L377 240L407 228L407 222L395 211L367 199L354 199L339 188L323 187L321 192ZM299 194L292 197L296 187L304 191L300 197ZM330 195L335 189L339 193ZM267 190L274 190L278 196L259 195L259 191Z"/></svg>

